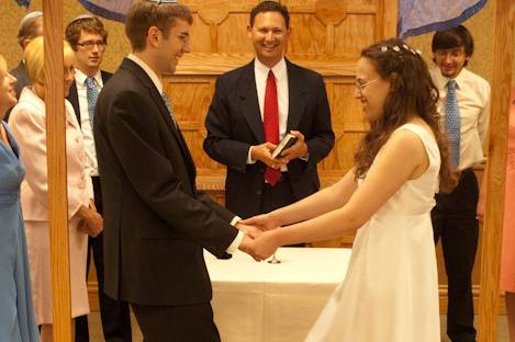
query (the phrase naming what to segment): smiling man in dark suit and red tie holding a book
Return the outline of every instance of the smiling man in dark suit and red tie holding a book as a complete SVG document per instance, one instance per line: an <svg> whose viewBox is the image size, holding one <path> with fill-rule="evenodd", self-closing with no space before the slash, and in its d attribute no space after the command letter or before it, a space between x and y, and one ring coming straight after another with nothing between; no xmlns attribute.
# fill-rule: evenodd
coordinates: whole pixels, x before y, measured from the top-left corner
<svg viewBox="0 0 515 342"><path fill-rule="evenodd" d="M284 58L290 33L284 5L253 9L247 34L256 58L217 79L205 118L204 150L227 167L226 207L242 217L318 191L316 166L334 146L324 80ZM272 158L287 133L296 142Z"/></svg>

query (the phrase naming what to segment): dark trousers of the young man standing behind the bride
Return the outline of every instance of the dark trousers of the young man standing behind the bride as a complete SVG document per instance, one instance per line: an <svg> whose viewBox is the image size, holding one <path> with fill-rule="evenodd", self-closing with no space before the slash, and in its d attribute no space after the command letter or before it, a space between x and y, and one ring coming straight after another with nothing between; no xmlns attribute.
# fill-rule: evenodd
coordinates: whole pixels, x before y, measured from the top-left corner
<svg viewBox="0 0 515 342"><path fill-rule="evenodd" d="M449 298L447 335L452 342L475 341L472 269L479 238L478 196L478 180L467 169L450 194L436 196L432 212L435 244L441 239L444 250Z"/></svg>

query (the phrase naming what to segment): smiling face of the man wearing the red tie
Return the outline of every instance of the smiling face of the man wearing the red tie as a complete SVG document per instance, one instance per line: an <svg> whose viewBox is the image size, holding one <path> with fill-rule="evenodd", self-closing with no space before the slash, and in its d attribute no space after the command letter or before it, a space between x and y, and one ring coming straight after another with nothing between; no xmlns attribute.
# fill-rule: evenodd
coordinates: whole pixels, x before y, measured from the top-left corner
<svg viewBox="0 0 515 342"><path fill-rule="evenodd" d="M277 65L284 54L290 29L280 12L261 12L254 20L254 25L247 27L256 57L260 62L271 68Z"/></svg>

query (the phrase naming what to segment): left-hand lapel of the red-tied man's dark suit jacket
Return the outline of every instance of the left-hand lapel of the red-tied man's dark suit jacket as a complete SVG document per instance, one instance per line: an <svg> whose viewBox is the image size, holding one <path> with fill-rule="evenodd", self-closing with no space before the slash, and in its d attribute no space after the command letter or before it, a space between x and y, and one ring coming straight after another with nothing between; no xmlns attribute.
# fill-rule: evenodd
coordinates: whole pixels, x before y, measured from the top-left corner
<svg viewBox="0 0 515 342"><path fill-rule="evenodd" d="M259 111L259 101L256 90L254 60L245 66L239 82L238 98L240 100L242 113L244 113L245 119L250 126L250 130L258 142L265 142L265 130L262 128L261 112Z"/></svg>

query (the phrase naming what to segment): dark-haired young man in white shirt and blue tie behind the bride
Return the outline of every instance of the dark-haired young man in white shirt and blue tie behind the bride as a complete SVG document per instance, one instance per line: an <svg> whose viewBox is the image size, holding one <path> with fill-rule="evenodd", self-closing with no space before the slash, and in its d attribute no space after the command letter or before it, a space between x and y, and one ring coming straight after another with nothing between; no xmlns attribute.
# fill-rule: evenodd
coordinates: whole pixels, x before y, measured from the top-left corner
<svg viewBox="0 0 515 342"><path fill-rule="evenodd" d="M475 341L472 269L479 238L477 208L484 194L472 167L484 161L490 84L466 68L474 45L464 26L436 32L432 49L437 68L430 73L440 95L451 162L459 174L451 193L436 195L433 228L435 243L441 239L448 278L447 334L452 342L470 342ZM484 180L483 173L483 184Z"/></svg>

